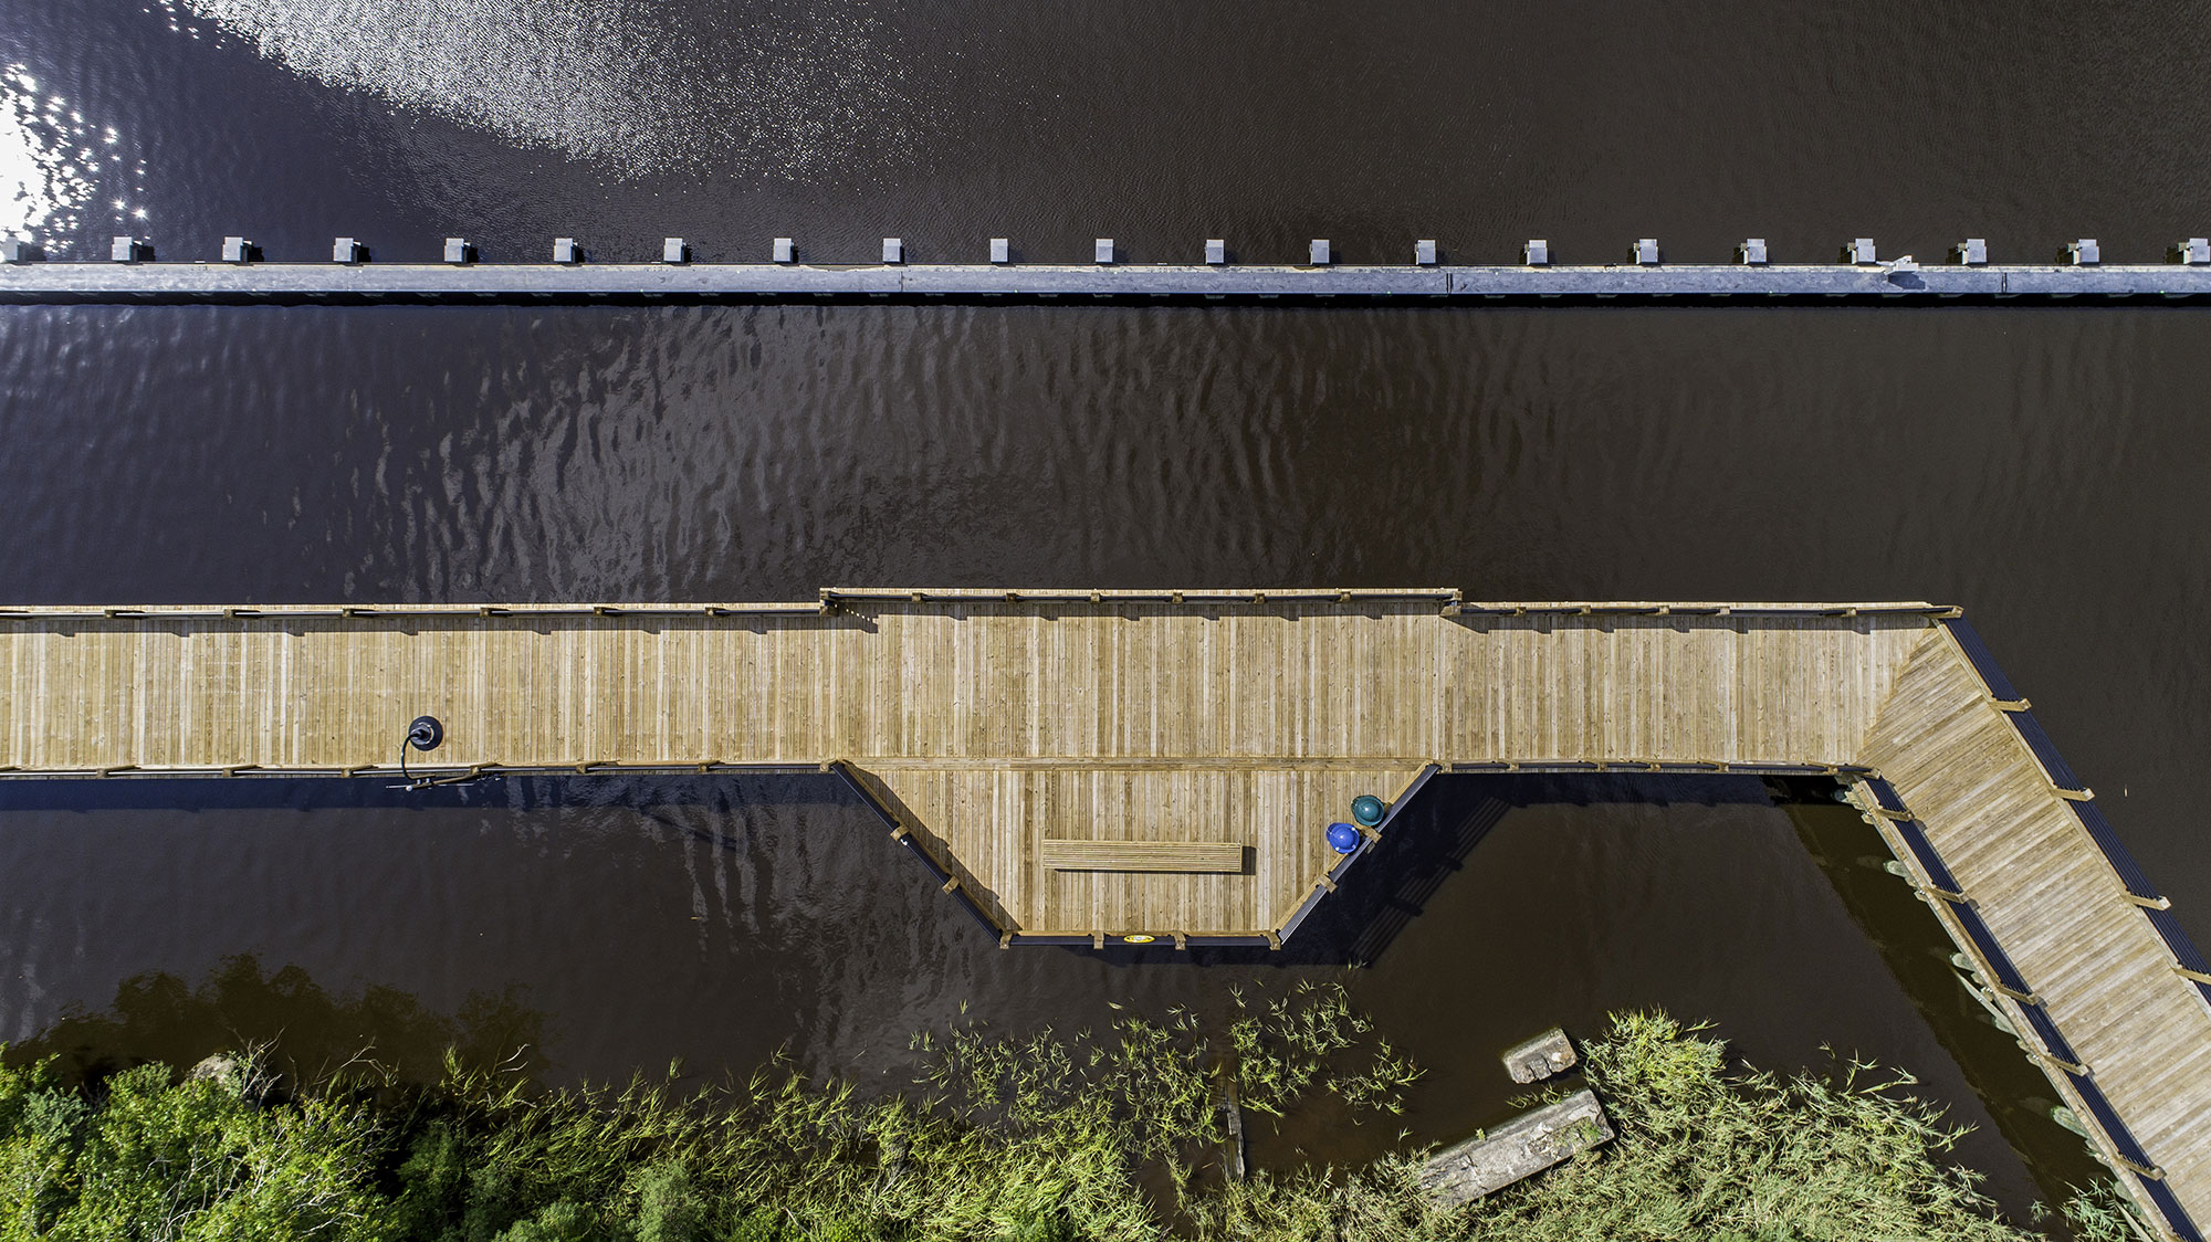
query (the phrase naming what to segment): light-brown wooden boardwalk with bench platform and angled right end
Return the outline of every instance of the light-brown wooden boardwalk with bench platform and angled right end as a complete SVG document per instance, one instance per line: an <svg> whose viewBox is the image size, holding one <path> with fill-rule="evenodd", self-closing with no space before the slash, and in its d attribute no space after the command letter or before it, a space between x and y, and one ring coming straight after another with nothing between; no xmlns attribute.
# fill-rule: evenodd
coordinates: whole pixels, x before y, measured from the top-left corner
<svg viewBox="0 0 2211 1242"><path fill-rule="evenodd" d="M1453 590L0 610L9 776L842 776L1002 944L1274 944L1437 771L1833 773L2173 1238L2211 970L1955 610ZM1389 833L1384 820L1380 829Z"/></svg>

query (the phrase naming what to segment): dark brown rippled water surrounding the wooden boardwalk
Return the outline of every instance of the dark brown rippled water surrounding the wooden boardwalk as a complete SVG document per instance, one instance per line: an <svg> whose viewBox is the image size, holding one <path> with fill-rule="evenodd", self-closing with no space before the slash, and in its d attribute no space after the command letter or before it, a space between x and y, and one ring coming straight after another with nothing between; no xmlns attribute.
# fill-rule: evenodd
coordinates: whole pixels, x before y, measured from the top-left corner
<svg viewBox="0 0 2211 1242"><path fill-rule="evenodd" d="M597 11L520 7L555 29ZM102 168L9 210L44 212L60 252L104 252L128 223L170 259L226 232L279 259L336 232L427 259L467 232L511 259L559 232L628 256L685 234L705 259L763 259L774 234L860 259L902 234L918 261L993 234L1035 259L1112 234L1134 261L1203 236L1247 259L1331 236L1360 261L1413 236L1461 259L1548 236L1585 261L1645 234L1718 259L1764 234L1809 261L1844 236L1932 256L1972 232L1999 259L2089 234L2147 261L2211 230L2211 33L2184 7L606 11L628 33L573 82L668 57L696 73L539 124L544 95L500 77L537 35L453 44L509 49L478 95L440 80L462 108L407 95L451 46L374 27L371 88L340 88L186 9L13 0L0 144L46 170L82 141ZM329 51L287 49L303 69ZM0 597L1950 601L2211 941L2207 391L2196 309L15 307ZM1439 796L1435 840L1486 796ZM1968 1158L2014 1209L2036 1191L2012 1145L2045 1185L2081 1176L2010 1043L1915 966L1939 948L1924 915L1862 895L1853 851L1820 844L1846 824L1742 789L1607 798L1512 793L1349 970L1358 928L1282 959L999 952L809 782L517 782L436 804L0 787L0 1036L77 1012L53 1039L115 1056L276 1028L413 1048L467 1010L471 1032L537 1036L562 1078L672 1056L745 1070L778 1045L895 1078L907 1032L962 1006L1077 1028L1110 1003L1218 1014L1238 983L1346 977L1433 1067L1422 1138L1501 1116L1503 1043L1667 1006L1773 1065L1835 1045L1919 1070L1981 1127ZM201 999L117 992L199 983L239 952L259 966ZM265 979L285 966L301 975ZM363 988L387 992L345 1008ZM1289 1136L1271 1156L1380 1140Z"/></svg>

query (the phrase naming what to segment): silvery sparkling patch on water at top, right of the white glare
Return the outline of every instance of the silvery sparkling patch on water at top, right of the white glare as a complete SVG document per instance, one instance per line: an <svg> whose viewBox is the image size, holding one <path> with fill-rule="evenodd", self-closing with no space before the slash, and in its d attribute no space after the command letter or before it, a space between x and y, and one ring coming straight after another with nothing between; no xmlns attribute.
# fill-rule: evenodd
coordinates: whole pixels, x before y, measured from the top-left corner
<svg viewBox="0 0 2211 1242"><path fill-rule="evenodd" d="M800 2L730 13L608 0L172 0L285 69L522 146L639 172L814 179L913 150L909 55L876 15Z"/></svg>

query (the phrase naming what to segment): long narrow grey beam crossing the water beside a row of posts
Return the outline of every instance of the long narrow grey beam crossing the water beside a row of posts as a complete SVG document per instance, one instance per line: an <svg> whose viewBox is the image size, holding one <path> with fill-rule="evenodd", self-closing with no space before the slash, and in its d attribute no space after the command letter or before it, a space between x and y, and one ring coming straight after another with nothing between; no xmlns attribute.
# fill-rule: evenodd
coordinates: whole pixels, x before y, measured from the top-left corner
<svg viewBox="0 0 2211 1242"><path fill-rule="evenodd" d="M2204 298L2202 263L7 263L0 303Z"/></svg>

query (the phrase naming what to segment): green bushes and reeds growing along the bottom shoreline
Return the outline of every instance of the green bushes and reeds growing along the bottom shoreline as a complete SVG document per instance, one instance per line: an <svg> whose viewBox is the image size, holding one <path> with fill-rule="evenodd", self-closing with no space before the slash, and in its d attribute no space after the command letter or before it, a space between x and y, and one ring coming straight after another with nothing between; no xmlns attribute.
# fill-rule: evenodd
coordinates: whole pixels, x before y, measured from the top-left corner
<svg viewBox="0 0 2211 1242"><path fill-rule="evenodd" d="M46 1059L0 1070L0 1240L2032 1238L1943 1165L1957 1134L1910 1078L1738 1070L1663 1014L1583 1050L1618 1140L1470 1209L1422 1198L1417 1154L1227 1182L1214 1056L1276 1118L1386 1118L1417 1076L1340 988L1238 1003L1212 1034L1174 1012L922 1036L884 1098L780 1070L546 1092L462 1059L429 1087L250 1056L71 1087ZM2098 1242L2127 1238L2120 1211L2072 1207Z"/></svg>

